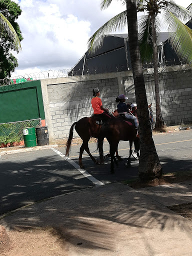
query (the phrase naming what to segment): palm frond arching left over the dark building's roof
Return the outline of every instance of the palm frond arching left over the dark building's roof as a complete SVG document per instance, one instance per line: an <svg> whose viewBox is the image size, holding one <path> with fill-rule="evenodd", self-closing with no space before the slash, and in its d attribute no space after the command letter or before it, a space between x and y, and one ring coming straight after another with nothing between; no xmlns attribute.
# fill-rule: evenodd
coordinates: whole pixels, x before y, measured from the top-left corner
<svg viewBox="0 0 192 256"><path fill-rule="evenodd" d="M94 52L102 45L104 36L112 31L116 31L117 29L124 28L126 24L126 10L124 10L109 19L88 39L87 44L88 48L90 48L89 51Z"/></svg>

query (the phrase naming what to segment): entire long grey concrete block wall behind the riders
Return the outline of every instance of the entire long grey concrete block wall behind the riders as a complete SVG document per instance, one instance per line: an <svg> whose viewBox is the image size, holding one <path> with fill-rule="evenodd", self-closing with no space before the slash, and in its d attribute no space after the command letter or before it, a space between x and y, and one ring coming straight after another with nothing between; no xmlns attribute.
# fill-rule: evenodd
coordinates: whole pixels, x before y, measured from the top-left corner
<svg viewBox="0 0 192 256"><path fill-rule="evenodd" d="M148 103L155 117L154 76L144 70ZM66 138L73 122L93 113L92 89L99 87L104 107L116 109L115 98L124 93L135 102L131 71L41 80L46 125L50 139ZM159 70L161 110L167 125L192 122L192 72L188 66ZM74 131L74 136L77 133Z"/></svg>

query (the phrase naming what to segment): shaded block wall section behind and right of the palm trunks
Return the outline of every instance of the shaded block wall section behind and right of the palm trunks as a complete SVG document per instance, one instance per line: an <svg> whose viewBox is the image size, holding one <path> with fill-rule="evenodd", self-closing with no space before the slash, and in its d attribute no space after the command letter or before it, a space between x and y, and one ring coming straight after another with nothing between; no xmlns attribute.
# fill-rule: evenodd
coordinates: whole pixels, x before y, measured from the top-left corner
<svg viewBox="0 0 192 256"><path fill-rule="evenodd" d="M192 122L192 70L182 66L159 70L161 111L167 125ZM148 103L152 103L155 118L154 75L144 73ZM124 91L129 102L135 102L133 77L123 77Z"/></svg>

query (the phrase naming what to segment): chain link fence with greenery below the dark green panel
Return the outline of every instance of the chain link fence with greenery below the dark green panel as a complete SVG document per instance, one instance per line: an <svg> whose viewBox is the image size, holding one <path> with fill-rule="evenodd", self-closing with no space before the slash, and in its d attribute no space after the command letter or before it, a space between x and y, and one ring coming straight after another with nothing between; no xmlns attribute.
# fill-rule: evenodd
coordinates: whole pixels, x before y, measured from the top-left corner
<svg viewBox="0 0 192 256"><path fill-rule="evenodd" d="M0 123L0 144L19 142L23 140L22 128L40 127L41 119L32 119L18 122Z"/></svg>

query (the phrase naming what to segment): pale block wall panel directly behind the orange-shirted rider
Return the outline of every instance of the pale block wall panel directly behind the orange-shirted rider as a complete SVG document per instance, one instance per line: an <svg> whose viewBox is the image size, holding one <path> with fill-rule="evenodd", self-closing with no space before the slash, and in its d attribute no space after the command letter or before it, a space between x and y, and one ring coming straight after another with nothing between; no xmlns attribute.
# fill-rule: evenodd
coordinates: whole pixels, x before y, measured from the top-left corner
<svg viewBox="0 0 192 256"><path fill-rule="evenodd" d="M104 107L113 107L118 95L117 77L47 84L53 139L66 138L73 122L91 116L92 89L99 87ZM74 136L77 133L74 130Z"/></svg>

